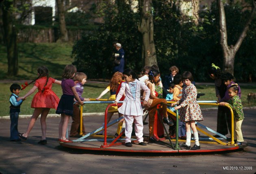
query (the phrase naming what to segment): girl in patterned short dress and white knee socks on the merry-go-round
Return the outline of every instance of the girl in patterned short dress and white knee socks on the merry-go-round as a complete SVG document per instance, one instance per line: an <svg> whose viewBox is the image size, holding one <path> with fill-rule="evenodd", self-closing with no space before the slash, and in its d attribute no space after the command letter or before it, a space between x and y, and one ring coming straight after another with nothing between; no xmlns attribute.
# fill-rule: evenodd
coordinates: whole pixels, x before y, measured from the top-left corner
<svg viewBox="0 0 256 174"><path fill-rule="evenodd" d="M193 81L191 72L184 72L182 74L182 80L186 85L182 89L182 99L172 103L171 106L178 104L178 106L176 106L174 109L180 109L180 121L184 121L186 123L187 140L186 143L183 143L180 146L184 149L190 149L191 127L195 138L195 145L191 148L191 150L197 150L200 149L200 144L198 132L195 127L195 121L202 121L204 119L200 106L196 101L197 89L191 83Z"/></svg>

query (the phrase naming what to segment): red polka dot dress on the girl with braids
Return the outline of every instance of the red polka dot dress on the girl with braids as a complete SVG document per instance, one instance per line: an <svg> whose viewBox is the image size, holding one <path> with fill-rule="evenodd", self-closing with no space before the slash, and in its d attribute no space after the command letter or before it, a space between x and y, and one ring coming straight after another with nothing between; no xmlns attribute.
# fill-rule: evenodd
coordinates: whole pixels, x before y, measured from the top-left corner
<svg viewBox="0 0 256 174"><path fill-rule="evenodd" d="M35 94L31 108L54 108L57 109L59 104L59 97L52 91L52 83L56 80L49 77L47 85L46 84L47 77L42 77L35 81L35 86L37 86L38 92ZM42 90L44 91L42 92Z"/></svg>

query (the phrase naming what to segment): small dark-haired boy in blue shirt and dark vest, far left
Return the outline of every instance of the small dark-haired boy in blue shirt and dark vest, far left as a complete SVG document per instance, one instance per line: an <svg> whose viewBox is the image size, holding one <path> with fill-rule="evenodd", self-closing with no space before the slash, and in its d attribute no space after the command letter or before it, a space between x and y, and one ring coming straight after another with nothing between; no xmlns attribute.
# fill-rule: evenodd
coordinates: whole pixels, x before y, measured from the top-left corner
<svg viewBox="0 0 256 174"><path fill-rule="evenodd" d="M17 98L20 94L20 89L21 89L20 85L15 83L10 86L11 96L10 96L9 102L11 103L11 106L10 106L10 120L11 120L10 140L11 141L20 141L20 138L18 136L19 134L18 119L19 119L19 113L20 113L20 105L24 100L26 100L26 98L24 98L23 100L20 100L19 102L17 102Z"/></svg>

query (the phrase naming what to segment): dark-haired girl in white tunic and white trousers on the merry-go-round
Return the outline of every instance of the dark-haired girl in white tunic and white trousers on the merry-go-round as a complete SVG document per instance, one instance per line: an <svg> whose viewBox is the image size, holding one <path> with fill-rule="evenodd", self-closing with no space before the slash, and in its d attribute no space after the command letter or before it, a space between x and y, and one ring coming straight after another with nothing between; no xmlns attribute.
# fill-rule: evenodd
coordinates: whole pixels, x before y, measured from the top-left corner
<svg viewBox="0 0 256 174"><path fill-rule="evenodd" d="M149 99L150 90L145 83L136 79L136 74L133 70L126 69L123 72L125 82L121 84L121 89L117 94L115 104L119 102L120 98L125 92L126 97L124 103L118 108L119 113L124 114L124 120L126 124L125 135L126 141L125 146L131 147L131 134L132 134L132 123L135 122L135 135L139 145L146 146L143 142L143 109L141 107L140 90L145 91L145 99L143 100L142 106L146 105Z"/></svg>

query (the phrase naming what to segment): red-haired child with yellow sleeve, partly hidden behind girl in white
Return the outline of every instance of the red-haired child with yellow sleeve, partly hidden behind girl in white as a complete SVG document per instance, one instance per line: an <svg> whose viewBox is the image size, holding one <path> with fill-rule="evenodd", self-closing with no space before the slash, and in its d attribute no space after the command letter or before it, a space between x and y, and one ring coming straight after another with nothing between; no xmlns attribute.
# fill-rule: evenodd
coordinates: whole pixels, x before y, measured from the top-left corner
<svg viewBox="0 0 256 174"><path fill-rule="evenodd" d="M115 72L111 78L111 81L110 81L108 87L106 87L106 89L104 91L102 91L102 93L98 96L98 98L96 98L96 100L100 100L100 98L103 95L105 95L108 91L110 91L110 97L108 98L108 100L115 100L116 91L117 91L119 84L122 81L122 77L123 77L123 74L121 72ZM113 116L113 114L115 112L118 112L117 106L111 106L108 108L107 123L109 123L109 121L111 120L111 117ZM121 115L119 115L119 117L121 117ZM104 123L103 123L103 125L104 125ZM102 134L102 133L103 133L103 131L99 132L98 134Z"/></svg>

